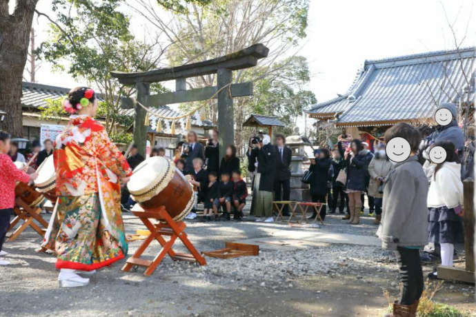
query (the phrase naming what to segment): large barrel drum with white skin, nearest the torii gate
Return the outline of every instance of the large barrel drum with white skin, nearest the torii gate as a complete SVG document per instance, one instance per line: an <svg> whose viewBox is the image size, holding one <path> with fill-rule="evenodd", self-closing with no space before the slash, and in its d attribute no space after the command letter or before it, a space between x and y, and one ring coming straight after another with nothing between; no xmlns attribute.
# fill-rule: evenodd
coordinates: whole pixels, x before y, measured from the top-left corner
<svg viewBox="0 0 476 317"><path fill-rule="evenodd" d="M162 156L139 164L127 185L132 199L143 209L164 206L174 221L181 221L195 205L192 185L175 165Z"/></svg>

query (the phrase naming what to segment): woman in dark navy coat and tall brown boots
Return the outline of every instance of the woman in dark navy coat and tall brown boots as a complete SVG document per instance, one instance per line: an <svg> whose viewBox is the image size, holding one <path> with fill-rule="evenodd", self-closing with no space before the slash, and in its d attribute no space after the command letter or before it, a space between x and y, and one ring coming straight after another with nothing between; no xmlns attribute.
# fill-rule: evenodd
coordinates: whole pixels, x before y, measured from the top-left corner
<svg viewBox="0 0 476 317"><path fill-rule="evenodd" d="M341 155L344 156L347 169L346 193L349 200L349 215L343 219L349 219L348 223L358 225L362 207L360 194L366 190L367 152L359 139L353 139L345 152L340 139L337 147Z"/></svg>

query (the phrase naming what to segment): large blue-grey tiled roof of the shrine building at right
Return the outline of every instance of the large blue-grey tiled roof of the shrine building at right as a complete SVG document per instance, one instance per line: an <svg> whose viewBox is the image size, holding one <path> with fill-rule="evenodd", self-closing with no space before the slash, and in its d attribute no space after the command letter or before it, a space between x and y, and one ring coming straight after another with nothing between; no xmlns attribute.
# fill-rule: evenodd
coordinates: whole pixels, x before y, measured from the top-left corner
<svg viewBox="0 0 476 317"><path fill-rule="evenodd" d="M467 48L366 61L346 94L315 105L308 114L337 116L339 126L430 119L435 101L458 101L467 89L464 74L472 78L474 93L475 59L475 48Z"/></svg>

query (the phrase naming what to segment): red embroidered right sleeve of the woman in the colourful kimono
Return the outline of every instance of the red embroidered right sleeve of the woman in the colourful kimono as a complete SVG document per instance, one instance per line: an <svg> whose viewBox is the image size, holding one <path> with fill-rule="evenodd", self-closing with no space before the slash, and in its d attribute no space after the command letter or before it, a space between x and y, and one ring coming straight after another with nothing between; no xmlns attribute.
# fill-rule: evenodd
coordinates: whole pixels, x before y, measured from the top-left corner
<svg viewBox="0 0 476 317"><path fill-rule="evenodd" d="M129 163L117 149L117 146L110 141L106 130L95 132L95 142L97 158L101 163L119 177L132 175Z"/></svg>

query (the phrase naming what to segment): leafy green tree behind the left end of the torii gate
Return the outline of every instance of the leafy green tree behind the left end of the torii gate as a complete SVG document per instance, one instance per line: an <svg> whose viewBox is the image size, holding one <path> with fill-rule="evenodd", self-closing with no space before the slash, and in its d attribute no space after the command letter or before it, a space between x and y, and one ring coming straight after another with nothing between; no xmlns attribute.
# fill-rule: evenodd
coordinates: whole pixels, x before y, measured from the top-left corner
<svg viewBox="0 0 476 317"><path fill-rule="evenodd" d="M56 14L50 23L50 37L41 43L37 54L66 70L74 79L93 83L101 91L98 115L106 120L110 135L117 133L117 125L130 126L132 117L121 114L121 96L130 96L132 88L121 85L110 76L112 70L123 72L146 71L156 68L161 52L158 42L135 40L129 28L129 18L119 10L120 0L54 0ZM154 85L154 90L163 90ZM48 110L57 112L56 108ZM50 113L43 110L46 115Z"/></svg>

